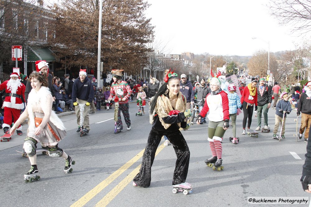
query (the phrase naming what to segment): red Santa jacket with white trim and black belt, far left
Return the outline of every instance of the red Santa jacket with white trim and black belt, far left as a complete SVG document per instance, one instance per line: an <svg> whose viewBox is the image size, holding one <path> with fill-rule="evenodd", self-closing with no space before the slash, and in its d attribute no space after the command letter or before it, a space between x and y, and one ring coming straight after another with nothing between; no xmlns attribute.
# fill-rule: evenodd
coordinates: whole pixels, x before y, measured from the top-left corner
<svg viewBox="0 0 311 207"><path fill-rule="evenodd" d="M16 86L11 86L9 87L8 84L9 80L4 81L3 83L0 84L0 90L5 89L5 92L8 93L12 93L12 94L17 94L20 95L20 97L23 96L24 100L25 100L25 85L23 83L20 83L18 86L16 84ZM24 104L22 103L21 98L19 97L13 97L13 96L7 96L5 97L5 100L3 102L3 106L4 107L9 107L9 108L13 108L13 109L23 109L24 108Z"/></svg>

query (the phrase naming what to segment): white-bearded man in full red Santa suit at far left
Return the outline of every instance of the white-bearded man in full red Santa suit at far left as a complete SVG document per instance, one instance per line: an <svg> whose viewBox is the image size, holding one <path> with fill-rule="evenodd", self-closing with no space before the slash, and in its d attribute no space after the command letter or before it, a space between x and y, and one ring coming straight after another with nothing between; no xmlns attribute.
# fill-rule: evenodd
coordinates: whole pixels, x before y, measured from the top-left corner
<svg viewBox="0 0 311 207"><path fill-rule="evenodd" d="M11 79L6 80L0 85L0 90L5 89L6 97L3 102L4 106L4 118L3 118L3 131L9 133L9 128L12 122L15 122L21 114L21 110L24 109L24 104L21 97L25 100L25 85L21 83L20 76L17 73L10 75ZM12 121L13 116L13 121ZM22 135L21 125L18 126L16 132L18 135Z"/></svg>

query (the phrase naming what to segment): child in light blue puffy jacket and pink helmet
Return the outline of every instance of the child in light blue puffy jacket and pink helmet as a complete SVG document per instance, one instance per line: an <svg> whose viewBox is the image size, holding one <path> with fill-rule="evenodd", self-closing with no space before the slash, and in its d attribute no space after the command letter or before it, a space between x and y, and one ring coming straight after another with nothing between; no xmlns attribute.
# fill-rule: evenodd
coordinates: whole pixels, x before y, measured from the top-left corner
<svg viewBox="0 0 311 207"><path fill-rule="evenodd" d="M229 119L231 117L231 124L232 124L232 132L233 132L233 137L232 137L232 143L237 144L239 142L238 138L236 138L236 126L235 126L235 121L236 121L236 116L238 112L238 108L242 107L240 97L238 94L235 92L236 91L236 86L234 83L230 83L228 86L228 99L229 99Z"/></svg>

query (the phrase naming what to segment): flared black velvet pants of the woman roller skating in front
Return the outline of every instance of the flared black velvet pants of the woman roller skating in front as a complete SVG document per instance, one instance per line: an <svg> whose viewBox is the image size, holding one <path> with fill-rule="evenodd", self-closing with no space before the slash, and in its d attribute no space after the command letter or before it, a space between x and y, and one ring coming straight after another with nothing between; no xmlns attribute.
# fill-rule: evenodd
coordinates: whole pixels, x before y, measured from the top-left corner
<svg viewBox="0 0 311 207"><path fill-rule="evenodd" d="M190 151L186 140L183 138L182 133L179 130L168 133L152 128L149 133L144 155L142 156L142 166L139 170L139 173L135 176L133 180L138 186L150 186L151 166L153 164L153 160L155 159L156 149L159 146L160 140L163 135L167 136L169 142L173 145L177 156L172 184L177 185L186 182Z"/></svg>

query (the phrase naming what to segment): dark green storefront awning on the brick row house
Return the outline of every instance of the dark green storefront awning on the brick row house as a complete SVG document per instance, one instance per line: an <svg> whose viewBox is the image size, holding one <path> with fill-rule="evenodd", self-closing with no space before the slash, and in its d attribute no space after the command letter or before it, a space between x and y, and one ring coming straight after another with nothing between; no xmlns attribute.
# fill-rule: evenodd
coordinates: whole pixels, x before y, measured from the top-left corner
<svg viewBox="0 0 311 207"><path fill-rule="evenodd" d="M49 47L33 49L28 46L27 62L35 62L38 60L56 61L54 52Z"/></svg>

